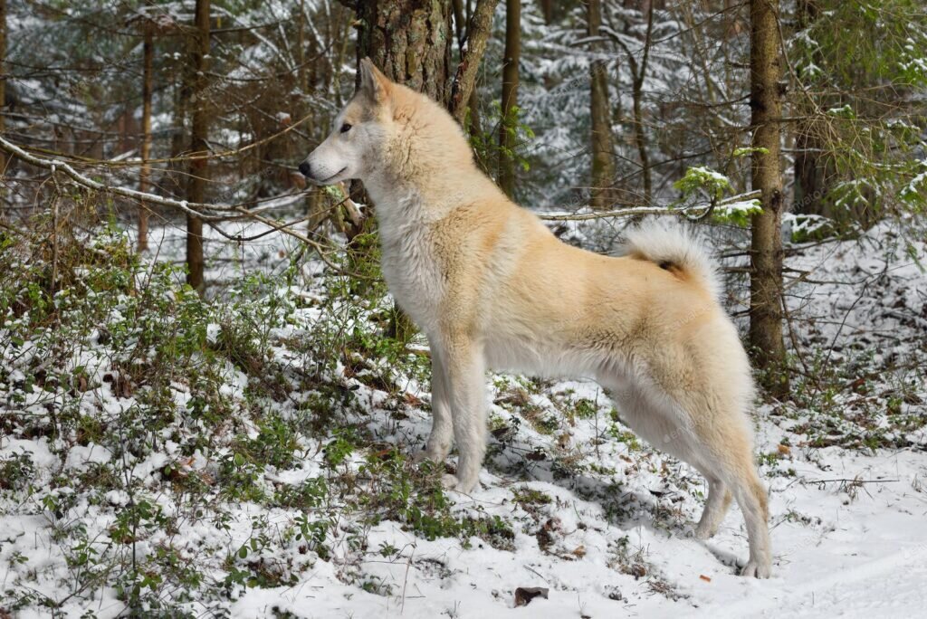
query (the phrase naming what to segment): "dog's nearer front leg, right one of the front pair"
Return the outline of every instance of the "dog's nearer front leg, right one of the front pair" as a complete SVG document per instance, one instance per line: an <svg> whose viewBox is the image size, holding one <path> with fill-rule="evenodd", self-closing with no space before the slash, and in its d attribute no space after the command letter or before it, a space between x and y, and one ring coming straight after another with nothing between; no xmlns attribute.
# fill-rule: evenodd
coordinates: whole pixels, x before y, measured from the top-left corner
<svg viewBox="0 0 927 619"><path fill-rule="evenodd" d="M486 454L486 376L483 350L469 337L454 338L441 350L451 396L451 420L457 442L457 477L445 485L469 492L479 481ZM450 477L450 475L449 475Z"/></svg>

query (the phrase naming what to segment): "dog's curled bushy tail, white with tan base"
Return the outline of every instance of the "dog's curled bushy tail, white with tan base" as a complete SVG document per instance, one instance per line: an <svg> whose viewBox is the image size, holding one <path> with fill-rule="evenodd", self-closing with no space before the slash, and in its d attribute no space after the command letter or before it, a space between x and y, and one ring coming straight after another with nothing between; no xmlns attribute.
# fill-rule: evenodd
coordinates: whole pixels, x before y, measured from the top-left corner
<svg viewBox="0 0 927 619"><path fill-rule="evenodd" d="M715 264L688 228L676 221L650 219L631 228L627 239L624 254L654 262L661 269L678 269L713 298L721 298L723 286Z"/></svg>

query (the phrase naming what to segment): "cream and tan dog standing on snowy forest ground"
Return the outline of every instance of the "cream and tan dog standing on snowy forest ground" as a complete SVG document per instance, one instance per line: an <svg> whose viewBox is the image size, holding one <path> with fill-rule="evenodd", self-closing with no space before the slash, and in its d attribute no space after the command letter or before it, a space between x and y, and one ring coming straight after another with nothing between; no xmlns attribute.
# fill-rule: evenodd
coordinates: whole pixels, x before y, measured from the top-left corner
<svg viewBox="0 0 927 619"><path fill-rule="evenodd" d="M376 209L390 293L427 335L434 423L423 457L469 492L486 453L487 369L589 376L622 419L708 482L695 535L743 512L742 574L770 575L767 494L747 411L750 364L719 302L705 249L648 222L625 255L566 245L476 167L461 127L436 101L391 82L369 58L332 133L300 165L311 183L363 182Z"/></svg>

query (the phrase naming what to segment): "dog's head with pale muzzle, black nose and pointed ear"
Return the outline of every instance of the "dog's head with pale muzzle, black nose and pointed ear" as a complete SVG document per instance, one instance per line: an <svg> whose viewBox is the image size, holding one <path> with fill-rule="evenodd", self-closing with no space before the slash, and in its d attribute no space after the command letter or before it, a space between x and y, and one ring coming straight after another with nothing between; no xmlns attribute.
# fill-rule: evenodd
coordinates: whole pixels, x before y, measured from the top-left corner
<svg viewBox="0 0 927 619"><path fill-rule="evenodd" d="M361 86L335 119L325 141L299 164L314 184L364 180L383 159L394 133L389 109L390 82L370 58L361 61Z"/></svg>

